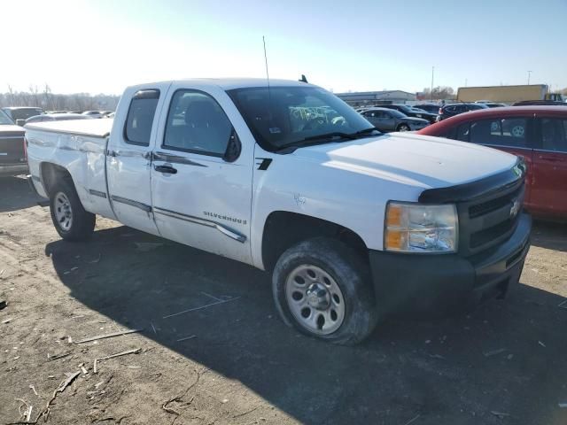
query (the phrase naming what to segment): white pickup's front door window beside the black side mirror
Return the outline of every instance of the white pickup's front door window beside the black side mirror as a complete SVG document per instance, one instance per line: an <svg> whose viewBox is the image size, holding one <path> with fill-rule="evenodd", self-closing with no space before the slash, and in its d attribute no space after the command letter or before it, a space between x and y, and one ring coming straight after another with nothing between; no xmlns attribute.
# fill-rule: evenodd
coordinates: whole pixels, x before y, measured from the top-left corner
<svg viewBox="0 0 567 425"><path fill-rule="evenodd" d="M232 134L229 118L213 97L197 90L175 92L163 148L222 157Z"/></svg>

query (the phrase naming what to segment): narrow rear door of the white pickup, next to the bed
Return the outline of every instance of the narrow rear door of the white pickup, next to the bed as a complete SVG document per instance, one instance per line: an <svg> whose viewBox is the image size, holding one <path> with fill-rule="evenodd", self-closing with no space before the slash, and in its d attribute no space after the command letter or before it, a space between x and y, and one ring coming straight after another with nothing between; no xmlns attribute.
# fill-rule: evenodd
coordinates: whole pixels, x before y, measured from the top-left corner
<svg viewBox="0 0 567 425"><path fill-rule="evenodd" d="M124 95L106 152L108 193L121 223L159 235L151 213L151 150L157 115L169 84L156 84ZM125 124L122 124L125 123ZM105 196L92 193L92 196Z"/></svg>

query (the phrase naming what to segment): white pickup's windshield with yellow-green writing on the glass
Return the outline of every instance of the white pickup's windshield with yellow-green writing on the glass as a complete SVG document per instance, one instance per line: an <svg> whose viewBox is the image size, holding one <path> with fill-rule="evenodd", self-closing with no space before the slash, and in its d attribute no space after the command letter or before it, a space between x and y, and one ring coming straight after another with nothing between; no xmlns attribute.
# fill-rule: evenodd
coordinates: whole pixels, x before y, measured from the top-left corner
<svg viewBox="0 0 567 425"><path fill-rule="evenodd" d="M228 93L257 142L267 151L313 144L314 140L336 142L340 135L348 139L350 135L372 133L369 121L317 87L260 87L232 89Z"/></svg>

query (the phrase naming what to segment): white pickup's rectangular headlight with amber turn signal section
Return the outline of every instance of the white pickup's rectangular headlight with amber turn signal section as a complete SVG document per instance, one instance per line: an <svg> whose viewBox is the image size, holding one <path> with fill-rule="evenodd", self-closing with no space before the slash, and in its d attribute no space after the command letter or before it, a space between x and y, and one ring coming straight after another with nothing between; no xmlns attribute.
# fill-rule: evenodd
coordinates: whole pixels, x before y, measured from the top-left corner
<svg viewBox="0 0 567 425"><path fill-rule="evenodd" d="M456 252L458 218L454 205L390 202L384 220L384 249L399 252Z"/></svg>

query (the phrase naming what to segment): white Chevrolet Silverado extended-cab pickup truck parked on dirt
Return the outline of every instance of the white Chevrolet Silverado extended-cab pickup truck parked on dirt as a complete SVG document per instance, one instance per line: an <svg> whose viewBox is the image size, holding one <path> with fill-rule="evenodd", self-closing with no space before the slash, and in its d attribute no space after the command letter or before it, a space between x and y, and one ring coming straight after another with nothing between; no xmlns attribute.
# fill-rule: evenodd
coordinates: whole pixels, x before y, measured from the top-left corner
<svg viewBox="0 0 567 425"><path fill-rule="evenodd" d="M337 344L390 313L503 296L529 249L517 157L380 134L305 82L143 84L114 120L29 124L26 140L64 239L101 215L266 270L283 321Z"/></svg>

